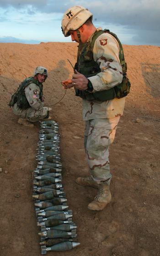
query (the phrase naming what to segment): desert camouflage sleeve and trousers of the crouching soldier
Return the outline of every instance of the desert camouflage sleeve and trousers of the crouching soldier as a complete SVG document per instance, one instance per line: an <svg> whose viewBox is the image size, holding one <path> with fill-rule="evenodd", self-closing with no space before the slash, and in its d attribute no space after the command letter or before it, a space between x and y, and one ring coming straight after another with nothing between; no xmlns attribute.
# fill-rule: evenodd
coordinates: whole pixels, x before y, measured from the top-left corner
<svg viewBox="0 0 160 256"><path fill-rule="evenodd" d="M25 88L25 95L29 105L31 107L27 109L21 109L17 106L17 103L13 106L13 112L15 115L27 118L30 122L36 122L47 116L48 107L44 107L44 103L39 99L40 89L36 84L30 84Z"/></svg>

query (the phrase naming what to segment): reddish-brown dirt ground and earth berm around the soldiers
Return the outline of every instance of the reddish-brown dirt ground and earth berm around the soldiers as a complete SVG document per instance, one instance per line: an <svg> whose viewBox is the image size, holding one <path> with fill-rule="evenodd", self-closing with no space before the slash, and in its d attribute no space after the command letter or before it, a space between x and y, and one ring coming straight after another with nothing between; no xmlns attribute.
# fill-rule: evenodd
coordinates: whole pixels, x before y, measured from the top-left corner
<svg viewBox="0 0 160 256"><path fill-rule="evenodd" d="M39 124L26 128L7 106L21 80L38 65L48 68L46 105L59 123L63 186L80 246L54 256L160 255L160 47L124 45L131 92L110 148L112 202L87 208L96 190L75 183L87 175L81 100L64 95L60 81L72 76L76 43L0 43L0 256L40 256L32 200ZM56 105L54 105L56 104Z"/></svg>

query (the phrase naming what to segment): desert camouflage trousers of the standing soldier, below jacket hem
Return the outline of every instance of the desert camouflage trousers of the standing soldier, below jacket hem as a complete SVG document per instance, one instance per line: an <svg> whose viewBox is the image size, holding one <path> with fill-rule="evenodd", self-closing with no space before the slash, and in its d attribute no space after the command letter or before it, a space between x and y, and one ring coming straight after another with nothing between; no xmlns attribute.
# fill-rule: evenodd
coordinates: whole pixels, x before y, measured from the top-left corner
<svg viewBox="0 0 160 256"><path fill-rule="evenodd" d="M120 117L86 121L84 146L91 177L98 184L110 184L109 146Z"/></svg>

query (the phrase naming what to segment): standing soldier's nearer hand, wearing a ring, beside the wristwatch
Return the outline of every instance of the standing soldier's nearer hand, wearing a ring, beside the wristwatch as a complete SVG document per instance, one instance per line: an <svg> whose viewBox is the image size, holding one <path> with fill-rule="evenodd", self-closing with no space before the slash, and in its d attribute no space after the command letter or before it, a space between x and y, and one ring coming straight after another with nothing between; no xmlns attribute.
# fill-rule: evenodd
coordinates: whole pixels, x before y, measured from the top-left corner
<svg viewBox="0 0 160 256"><path fill-rule="evenodd" d="M76 69L74 70L74 74L72 77L73 86L80 91L85 91L88 88L88 79L80 74Z"/></svg>

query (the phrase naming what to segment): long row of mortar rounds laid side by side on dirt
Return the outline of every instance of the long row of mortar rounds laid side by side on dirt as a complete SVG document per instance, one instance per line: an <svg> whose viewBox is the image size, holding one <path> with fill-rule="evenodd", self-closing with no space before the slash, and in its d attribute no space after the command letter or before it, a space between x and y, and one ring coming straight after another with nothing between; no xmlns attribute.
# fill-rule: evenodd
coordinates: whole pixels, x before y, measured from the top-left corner
<svg viewBox="0 0 160 256"><path fill-rule="evenodd" d="M41 253L71 250L80 243L62 185L58 123L52 120L41 122L37 145L32 197L40 228Z"/></svg>

